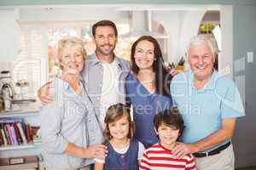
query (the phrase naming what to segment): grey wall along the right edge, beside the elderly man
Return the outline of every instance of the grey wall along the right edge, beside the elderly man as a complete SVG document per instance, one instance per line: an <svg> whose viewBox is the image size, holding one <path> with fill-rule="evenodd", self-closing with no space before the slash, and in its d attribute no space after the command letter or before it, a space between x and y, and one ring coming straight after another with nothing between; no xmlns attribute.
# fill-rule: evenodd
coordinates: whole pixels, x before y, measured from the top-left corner
<svg viewBox="0 0 256 170"><path fill-rule="evenodd" d="M233 7L233 77L238 84L240 93L244 93L246 116L239 118L232 140L235 149L236 167L256 167L256 4L236 5ZM253 62L247 62L247 52L253 52ZM237 65L243 65L237 69Z"/></svg>

